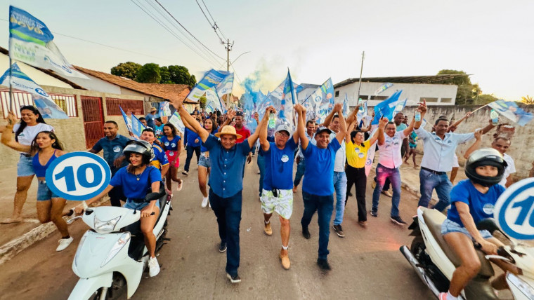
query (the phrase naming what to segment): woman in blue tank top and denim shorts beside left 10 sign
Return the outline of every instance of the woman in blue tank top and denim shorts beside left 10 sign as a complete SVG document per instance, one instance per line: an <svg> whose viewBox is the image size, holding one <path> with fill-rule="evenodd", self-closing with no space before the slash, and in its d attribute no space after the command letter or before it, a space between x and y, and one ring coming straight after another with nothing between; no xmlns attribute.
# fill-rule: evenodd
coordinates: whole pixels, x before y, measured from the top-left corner
<svg viewBox="0 0 534 300"><path fill-rule="evenodd" d="M32 158L32 168L37 175L37 219L41 224L52 221L61 233L61 239L56 251L63 251L74 240L67 229L67 223L63 219L63 208L67 200L60 198L53 191L48 189L45 175L48 166L59 156L65 154L63 145L54 132L41 131L32 141L30 146L22 145L13 140L10 130L2 132L1 142L12 149L30 153Z"/></svg>

